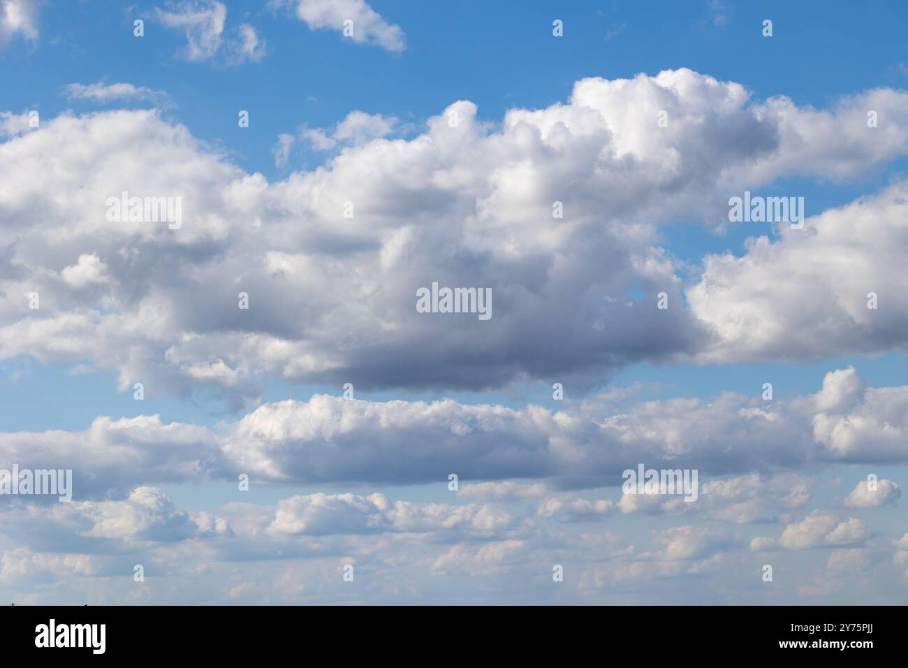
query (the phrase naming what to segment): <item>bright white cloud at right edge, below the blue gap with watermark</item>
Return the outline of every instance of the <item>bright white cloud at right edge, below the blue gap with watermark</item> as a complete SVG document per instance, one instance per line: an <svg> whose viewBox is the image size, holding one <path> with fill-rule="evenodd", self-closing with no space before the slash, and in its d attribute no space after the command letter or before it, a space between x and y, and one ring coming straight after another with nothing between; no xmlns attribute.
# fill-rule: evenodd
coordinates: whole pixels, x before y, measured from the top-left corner
<svg viewBox="0 0 908 668"><path fill-rule="evenodd" d="M708 255L700 281L686 291L693 313L716 334L702 359L904 351L908 294L897 286L908 252L906 215L902 181L817 212L804 229L781 225L780 238L759 236L740 257ZM877 295L875 309L868 308L870 293Z"/></svg>

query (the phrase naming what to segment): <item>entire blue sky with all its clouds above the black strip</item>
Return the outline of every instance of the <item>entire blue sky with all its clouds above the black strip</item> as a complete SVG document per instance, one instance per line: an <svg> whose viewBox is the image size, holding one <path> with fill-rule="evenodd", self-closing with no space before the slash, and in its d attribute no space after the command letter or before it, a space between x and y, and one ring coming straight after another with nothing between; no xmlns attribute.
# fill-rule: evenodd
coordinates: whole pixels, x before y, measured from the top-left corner
<svg viewBox="0 0 908 668"><path fill-rule="evenodd" d="M855 603L857 593L861 603L900 600L908 540L896 542L908 526L897 490L908 456L903 441L887 439L897 441L905 427L898 402L908 371L908 286L898 261L908 6L341 0L335 15L322 0L3 5L25 22L0 28L0 129L13 128L0 135L0 260L12 258L8 272L0 263L0 453L27 464L23 448L32 444L78 463L73 444L84 441L91 455L82 473L91 483L77 494L78 516L35 520L40 506L10 507L13 528L0 549L7 563L27 566L21 578L13 566L0 571L0 591L68 603L89 595L94 580L103 583L91 594L97 600L134 603ZM223 10L219 29L204 23ZM379 15L366 43L341 35L335 19L348 10ZM329 25L314 25L306 11L327 15ZM191 15L207 17L201 32L180 27ZM355 15L359 22L368 14ZM144 20L141 38L133 36L136 18ZM771 37L761 35L766 18ZM555 19L564 22L563 37L552 35ZM258 40L252 55L232 52L246 35L242 26ZM387 36L393 26L405 35L402 48ZM193 56L193 40L208 50ZM680 74L659 74L666 70ZM577 82L595 77L588 97L578 93ZM622 79L633 83L609 84ZM114 95L116 84L140 88ZM73 85L100 93L80 96ZM746 102L735 85L749 93ZM649 135L635 134L635 124L666 100L676 105L669 127L677 134L663 153ZM478 107L460 156L446 153L447 135L433 125L458 101ZM877 135L888 133L885 140L855 129L869 105L882 105ZM152 107L153 117L141 115ZM559 148L545 119L580 137L590 108L605 129ZM41 115L32 135L47 144L29 143L17 120L32 110ZM249 112L249 127L238 126L240 110ZM538 110L526 122L540 144L505 122L514 110ZM368 115L358 130L366 135L343 134L351 112ZM313 131L331 147L319 146ZM281 135L292 141L283 161ZM117 143L123 138L134 144ZM439 146L431 158L420 153L427 138ZM584 145L597 142L601 174L578 166ZM183 171L192 160L192 171ZM17 181L22 174L33 180ZM45 178L43 193L29 189ZM205 203L187 209L196 218L173 246L148 233L95 228L86 193L145 184L185 193L188 206ZM803 196L817 241L799 241L780 224L727 224L725 199L745 189ZM582 210L571 221L576 228L555 234L531 220L526 212L548 207L549 191ZM345 199L369 203L364 227L350 232L320 208ZM848 208L854 202L864 209ZM249 232L253 219L262 234ZM865 243L848 236L850 226L874 224ZM449 234L454 241L445 245ZM775 254L754 250L761 236ZM815 246L804 251L802 243ZM409 262L394 259L401 247ZM246 266L249 249L255 259ZM123 260L133 251L141 269ZM721 254L728 264L707 262ZM427 271L493 284L505 295L496 302L501 324L493 318L480 331L431 321L426 329L411 309L398 314L419 284L412 281L435 279ZM339 285L345 280L349 292ZM233 284L256 286L253 300L269 294L264 314L252 310L261 321L236 324L222 314L214 295L223 287L232 300ZM15 302L29 285L41 286L49 313L29 314ZM668 324L645 311L660 286L673 304ZM724 303L720 287L736 301ZM343 303L336 311L321 302L335 288ZM884 295L883 306L864 321L849 300L861 302L869 289ZM565 297L572 290L576 304ZM613 310L622 300L632 313ZM386 321L382 313L394 315ZM735 322L727 314L740 315ZM34 344L21 343L24 335ZM826 376L848 367L853 375ZM132 390L140 376L141 403ZM333 424L322 411L334 409L312 397L340 397L347 379L362 413L341 406ZM566 386L563 402L552 397L554 382ZM774 384L771 406L761 403L766 382ZM896 390L876 389L886 387ZM288 410L301 417L276 408L288 399L300 403ZM439 427L417 403L441 399L452 404L437 409ZM265 410L253 414L257 408ZM534 417L536 410L546 416ZM764 433L735 422L754 412L775 426ZM155 414L164 426L141 422ZM141 424L107 433L97 422L104 416ZM827 419L839 431L825 433ZM288 435L306 420L321 425L316 435ZM171 423L178 425L168 431ZM343 442L338 434L349 424L348 456L368 462L363 453L387 453L385 464L341 466L333 455L313 454L336 450L333 439ZM581 424L603 432L590 436ZM866 431L845 434L855 424ZM431 482L430 462L410 463L409 454L448 438L445 425L473 434L457 446L476 474L470 483L504 486L474 487L452 502L443 464ZM477 446L479 432L494 445ZM558 464L540 464L530 452L539 437ZM752 449L767 437L777 441L761 462ZM159 460L171 439L177 452L207 452L211 459L192 461L211 466L210 475L185 474L192 467L183 454ZM700 450L700 441L708 447ZM653 465L689 464L701 471L701 485L728 480L736 495L696 513L620 506L623 466L613 471L617 464L600 461L600 447L628 462L646 463L649 454ZM439 462L448 462L444 454ZM233 482L242 466L258 473L244 495ZM896 492L858 499L855 485L870 473ZM753 474L756 483L747 478ZM802 486L805 494L778 501ZM427 503L461 513L446 524L458 534L434 525L408 531L412 524L400 519L408 513L389 514L363 500L369 494L416 504L408 513L419 517L442 513ZM572 514L578 499L602 503ZM370 503L377 505L363 511ZM561 510L546 514L547 503ZM729 509L737 503L739 513ZM350 530L359 526L356 513L371 513L370 527L380 518L390 528ZM209 527L215 515L229 532ZM74 538L25 540L16 528L29 522ZM840 540L843 533L850 537ZM775 543L764 551L752 543L760 537ZM400 587L393 564L408 551L415 556L406 567L419 574ZM65 554L83 560L83 570L60 565ZM533 554L544 562L536 570L528 566ZM176 555L213 574L187 586L186 573L168 565ZM139 559L154 564L143 589L128 577ZM368 573L356 593L334 578L337 563L350 559ZM567 591L548 587L552 559L570 564ZM758 573L774 559L787 589L770 593ZM256 571L261 560L285 572L266 582ZM231 563L242 565L231 571ZM281 595L281 577L308 584Z"/></svg>

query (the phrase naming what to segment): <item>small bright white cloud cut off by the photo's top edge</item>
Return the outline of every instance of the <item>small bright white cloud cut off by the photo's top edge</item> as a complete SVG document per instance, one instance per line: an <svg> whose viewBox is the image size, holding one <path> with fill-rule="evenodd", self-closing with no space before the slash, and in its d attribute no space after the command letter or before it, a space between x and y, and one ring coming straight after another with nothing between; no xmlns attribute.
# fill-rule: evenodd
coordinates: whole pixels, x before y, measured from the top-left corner
<svg viewBox="0 0 908 668"><path fill-rule="evenodd" d="M357 44L377 45L391 52L406 47L400 25L388 23L365 0L272 0L271 5L294 7L297 18L310 30L334 30ZM352 24L345 25L346 21Z"/></svg>

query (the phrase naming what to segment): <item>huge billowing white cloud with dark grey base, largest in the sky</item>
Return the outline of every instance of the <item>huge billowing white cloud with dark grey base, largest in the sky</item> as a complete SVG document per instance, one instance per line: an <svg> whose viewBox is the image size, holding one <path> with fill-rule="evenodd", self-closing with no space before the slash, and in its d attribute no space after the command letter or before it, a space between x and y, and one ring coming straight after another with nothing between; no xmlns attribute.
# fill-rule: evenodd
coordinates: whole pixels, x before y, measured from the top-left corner
<svg viewBox="0 0 908 668"><path fill-rule="evenodd" d="M196 49L207 53L216 40L202 36ZM844 102L829 123L848 122L844 108L864 108L878 93ZM906 99L873 97L891 117L908 108ZM663 108L672 121L657 133L644 111ZM728 184L786 174L799 155L804 170L840 176L883 164L903 145L899 137L868 141L864 153L840 161L853 169L806 161L815 152L805 146L822 152L829 144L809 131L813 114L751 104L741 85L689 70L591 78L577 82L567 104L512 109L497 128L465 101L409 140L369 139L390 121L348 116L331 135L350 143L340 155L271 184L153 112L60 116L0 144L0 207L16 221L15 244L0 254L0 316L8 323L0 356L87 360L116 369L121 389L140 378L177 394L220 388L239 406L266 377L450 390L557 376L582 392L640 360L746 352L749 339L729 334L738 325L722 325L737 307L708 305L710 263L704 287L686 294L691 311L656 309L659 292L672 305L685 299L656 222L727 197ZM279 160L288 159L286 148ZM108 222L104 203L123 191L181 197L182 227ZM896 220L897 194L855 211L879 204L884 220ZM564 218L552 217L554 202ZM807 228L818 229L815 221ZM896 253L894 241L890 247ZM86 254L107 267L100 290L60 278ZM883 272L887 263L866 265ZM488 287L492 318L418 313L416 290L435 281ZM31 292L42 295L40 311L27 308ZM250 310L237 308L240 292L250 294ZM864 309L862 317L895 314L898 297L886 299L885 314ZM782 317L780 310L761 322ZM904 331L893 323L890 344ZM864 334L850 340L865 345ZM197 373L200 365L223 365L222 373Z"/></svg>

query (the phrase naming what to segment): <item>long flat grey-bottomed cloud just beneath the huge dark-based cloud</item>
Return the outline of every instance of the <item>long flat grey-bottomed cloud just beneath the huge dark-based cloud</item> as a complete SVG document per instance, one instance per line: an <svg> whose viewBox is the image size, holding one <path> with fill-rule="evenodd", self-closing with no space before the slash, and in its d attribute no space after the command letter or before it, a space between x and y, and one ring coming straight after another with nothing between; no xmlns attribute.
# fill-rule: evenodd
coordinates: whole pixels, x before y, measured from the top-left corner
<svg viewBox="0 0 908 668"><path fill-rule="evenodd" d="M595 487L620 484L621 472L639 461L718 475L815 460L809 414L754 404L725 394L635 404L622 414L592 402L552 413L316 395L260 406L231 425L221 447L237 471L274 483L413 484L457 471L462 483L550 478Z"/></svg>

